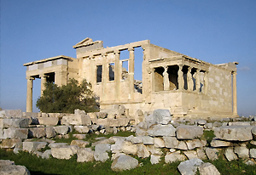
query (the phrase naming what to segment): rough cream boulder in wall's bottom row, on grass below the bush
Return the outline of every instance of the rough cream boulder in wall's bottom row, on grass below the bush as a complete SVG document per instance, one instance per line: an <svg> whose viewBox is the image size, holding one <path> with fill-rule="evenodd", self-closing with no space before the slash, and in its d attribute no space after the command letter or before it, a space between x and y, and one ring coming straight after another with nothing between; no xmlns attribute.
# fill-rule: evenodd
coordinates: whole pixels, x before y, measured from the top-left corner
<svg viewBox="0 0 256 175"><path fill-rule="evenodd" d="M51 155L57 159L70 159L72 155L77 153L78 149L75 149L72 146L66 146L61 148L52 148Z"/></svg>

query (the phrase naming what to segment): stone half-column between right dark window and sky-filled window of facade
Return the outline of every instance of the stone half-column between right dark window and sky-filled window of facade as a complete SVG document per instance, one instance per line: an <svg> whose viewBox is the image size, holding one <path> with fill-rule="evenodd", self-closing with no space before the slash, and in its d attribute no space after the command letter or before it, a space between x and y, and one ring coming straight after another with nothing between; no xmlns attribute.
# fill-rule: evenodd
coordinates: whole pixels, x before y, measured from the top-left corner
<svg viewBox="0 0 256 175"><path fill-rule="evenodd" d="M114 51L115 61L114 61L114 81L115 81L115 99L119 100L120 97L120 80L122 76L122 68L120 71L120 51Z"/></svg>

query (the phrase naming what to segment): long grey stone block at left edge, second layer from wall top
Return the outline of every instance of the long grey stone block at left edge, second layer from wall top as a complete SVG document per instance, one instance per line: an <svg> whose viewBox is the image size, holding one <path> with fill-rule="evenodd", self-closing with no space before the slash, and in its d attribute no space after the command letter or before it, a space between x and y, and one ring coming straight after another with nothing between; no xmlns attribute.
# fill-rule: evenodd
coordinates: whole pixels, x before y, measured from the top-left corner
<svg viewBox="0 0 256 175"><path fill-rule="evenodd" d="M4 118L3 119L3 128L7 127L20 127L20 128L26 128L30 124L29 118Z"/></svg>

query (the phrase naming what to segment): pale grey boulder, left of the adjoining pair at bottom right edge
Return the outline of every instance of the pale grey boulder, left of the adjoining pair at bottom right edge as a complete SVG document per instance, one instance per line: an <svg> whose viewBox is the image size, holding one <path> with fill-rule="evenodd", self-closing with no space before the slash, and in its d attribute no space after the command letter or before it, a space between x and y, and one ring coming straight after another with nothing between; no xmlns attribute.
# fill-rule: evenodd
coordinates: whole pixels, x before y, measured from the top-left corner
<svg viewBox="0 0 256 175"><path fill-rule="evenodd" d="M177 169L182 175L194 175L197 172L197 167L200 167L203 163L201 159L190 159L181 162Z"/></svg>

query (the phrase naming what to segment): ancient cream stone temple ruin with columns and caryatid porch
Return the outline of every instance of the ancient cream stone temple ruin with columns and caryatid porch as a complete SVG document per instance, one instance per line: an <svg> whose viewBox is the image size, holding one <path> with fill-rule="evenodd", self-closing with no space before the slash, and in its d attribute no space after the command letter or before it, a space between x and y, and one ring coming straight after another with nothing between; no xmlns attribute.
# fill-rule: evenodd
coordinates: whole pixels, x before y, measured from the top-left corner
<svg viewBox="0 0 256 175"><path fill-rule="evenodd" d="M47 81L61 86L70 78L85 78L100 98L101 109L123 104L130 114L166 109L173 116L237 116L236 62L212 65L149 40L103 48L102 41L87 37L73 48L76 59L61 55L24 64L27 112L32 111L35 78L41 79L41 91ZM142 81L134 74L137 48L143 48ZM129 55L120 59L125 51Z"/></svg>

